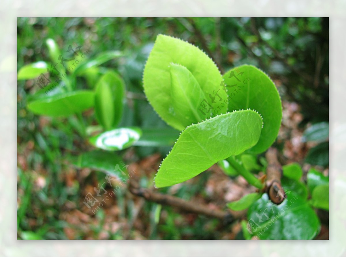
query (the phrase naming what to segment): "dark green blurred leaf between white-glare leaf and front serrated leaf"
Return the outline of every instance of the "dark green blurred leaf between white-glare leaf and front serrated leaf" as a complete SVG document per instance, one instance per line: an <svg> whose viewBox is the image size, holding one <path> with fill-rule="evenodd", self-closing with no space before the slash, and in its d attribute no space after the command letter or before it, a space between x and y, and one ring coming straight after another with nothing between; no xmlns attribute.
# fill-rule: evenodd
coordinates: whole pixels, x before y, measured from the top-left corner
<svg viewBox="0 0 346 257"><path fill-rule="evenodd" d="M179 137L179 131L171 128L143 128L142 132L143 135L134 145L143 147L173 145Z"/></svg>

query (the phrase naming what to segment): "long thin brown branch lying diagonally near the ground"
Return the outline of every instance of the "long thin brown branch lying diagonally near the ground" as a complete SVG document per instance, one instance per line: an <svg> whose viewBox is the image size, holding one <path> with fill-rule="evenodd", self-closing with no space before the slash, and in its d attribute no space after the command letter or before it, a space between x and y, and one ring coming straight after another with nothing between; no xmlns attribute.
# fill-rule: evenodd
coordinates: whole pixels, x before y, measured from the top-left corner
<svg viewBox="0 0 346 257"><path fill-rule="evenodd" d="M179 197L165 195L158 192L155 192L152 189L141 188L138 184L136 178L131 178L129 184L129 190L132 194L136 196L143 197L147 201L159 203L162 205L169 205L178 208L181 211L189 213L202 214L208 217L217 218L222 220L224 223L231 223L237 219L240 219L244 216L246 212L234 212L231 210L222 211L222 210L213 210L209 206L182 200Z"/></svg>

